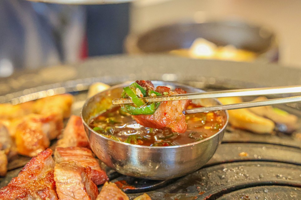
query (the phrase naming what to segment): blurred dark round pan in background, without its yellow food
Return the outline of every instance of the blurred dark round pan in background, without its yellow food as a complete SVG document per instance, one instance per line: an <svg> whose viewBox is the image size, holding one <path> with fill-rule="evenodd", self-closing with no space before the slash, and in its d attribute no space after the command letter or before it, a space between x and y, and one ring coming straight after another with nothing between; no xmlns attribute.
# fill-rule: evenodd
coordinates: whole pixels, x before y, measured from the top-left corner
<svg viewBox="0 0 301 200"><path fill-rule="evenodd" d="M278 61L278 44L273 31L237 20L164 25L142 34L129 34L124 46L130 54L166 53L188 49L197 38L206 39L217 46L233 45L255 52L260 61Z"/></svg>

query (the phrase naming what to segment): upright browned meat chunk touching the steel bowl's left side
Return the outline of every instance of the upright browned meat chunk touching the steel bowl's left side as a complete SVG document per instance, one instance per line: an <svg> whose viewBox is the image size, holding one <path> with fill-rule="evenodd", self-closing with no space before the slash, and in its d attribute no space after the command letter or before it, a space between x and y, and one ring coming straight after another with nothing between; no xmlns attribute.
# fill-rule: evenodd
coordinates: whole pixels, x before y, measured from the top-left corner
<svg viewBox="0 0 301 200"><path fill-rule="evenodd" d="M57 142L57 146L90 148L80 116L72 115L69 118L63 132L63 137Z"/></svg>

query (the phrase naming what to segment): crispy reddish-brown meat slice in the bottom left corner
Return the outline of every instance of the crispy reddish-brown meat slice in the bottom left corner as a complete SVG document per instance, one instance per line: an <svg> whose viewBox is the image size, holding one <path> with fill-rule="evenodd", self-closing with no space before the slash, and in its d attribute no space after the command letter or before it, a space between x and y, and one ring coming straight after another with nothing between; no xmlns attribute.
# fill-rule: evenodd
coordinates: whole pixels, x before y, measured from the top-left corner
<svg viewBox="0 0 301 200"><path fill-rule="evenodd" d="M51 154L52 150L46 149L31 158L19 175L0 190L0 199L58 199Z"/></svg>

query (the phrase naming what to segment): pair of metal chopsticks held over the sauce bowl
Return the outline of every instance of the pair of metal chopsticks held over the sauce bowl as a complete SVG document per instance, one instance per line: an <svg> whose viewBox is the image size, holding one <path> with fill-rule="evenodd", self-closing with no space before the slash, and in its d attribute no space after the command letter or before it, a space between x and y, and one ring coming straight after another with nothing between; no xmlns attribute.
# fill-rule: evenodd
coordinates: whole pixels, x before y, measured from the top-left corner
<svg viewBox="0 0 301 200"><path fill-rule="evenodd" d="M255 96L255 95L269 95L269 94L286 94L286 93L301 93L301 86L285 86L285 87L269 87L269 88L252 88L252 89L234 89L234 90L223 90L214 92L203 92L203 93L189 93L189 94L177 94L170 96L159 96L159 97L143 97L146 102L161 102L161 101L176 101L176 100L192 100L201 98L221 98L221 97L242 97L242 96ZM228 105L219 105L211 107L201 107L189 110L184 110L184 114L192 114L198 112L207 111L219 111L219 110L233 110L240 108L260 107L269 106L283 103L293 103L301 101L301 96L286 97L268 99L262 101L242 102ZM113 105L133 103L131 99L114 99Z"/></svg>

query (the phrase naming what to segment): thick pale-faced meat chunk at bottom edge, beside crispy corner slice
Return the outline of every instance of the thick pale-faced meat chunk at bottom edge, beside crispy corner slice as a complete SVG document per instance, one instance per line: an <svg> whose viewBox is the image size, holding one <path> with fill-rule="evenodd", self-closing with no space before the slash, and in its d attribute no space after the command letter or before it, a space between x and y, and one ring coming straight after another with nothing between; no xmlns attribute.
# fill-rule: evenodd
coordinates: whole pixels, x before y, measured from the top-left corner
<svg viewBox="0 0 301 200"><path fill-rule="evenodd" d="M96 199L97 186L90 179L90 167L82 167L74 162L55 165L54 180L60 199Z"/></svg>

